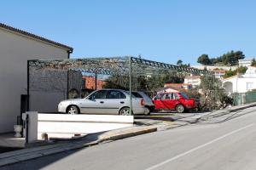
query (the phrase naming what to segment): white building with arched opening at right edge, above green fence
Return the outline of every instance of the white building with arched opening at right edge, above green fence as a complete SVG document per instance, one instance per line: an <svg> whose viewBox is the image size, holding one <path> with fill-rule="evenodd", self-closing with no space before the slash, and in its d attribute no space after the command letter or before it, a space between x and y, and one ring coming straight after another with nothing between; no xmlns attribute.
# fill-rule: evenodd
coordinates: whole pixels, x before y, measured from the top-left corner
<svg viewBox="0 0 256 170"><path fill-rule="evenodd" d="M244 75L236 75L223 79L223 84L228 94L246 93L256 88L256 67L247 66Z"/></svg>

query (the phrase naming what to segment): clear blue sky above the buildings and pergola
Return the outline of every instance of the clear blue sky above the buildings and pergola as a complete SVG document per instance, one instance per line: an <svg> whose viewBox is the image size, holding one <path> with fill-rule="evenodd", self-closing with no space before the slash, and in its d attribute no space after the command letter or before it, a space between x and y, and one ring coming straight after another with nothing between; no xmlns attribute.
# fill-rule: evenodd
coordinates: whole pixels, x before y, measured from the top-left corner
<svg viewBox="0 0 256 170"><path fill-rule="evenodd" d="M256 56L255 7L254 0L9 0L0 22L73 47L71 58L197 65L201 54Z"/></svg>

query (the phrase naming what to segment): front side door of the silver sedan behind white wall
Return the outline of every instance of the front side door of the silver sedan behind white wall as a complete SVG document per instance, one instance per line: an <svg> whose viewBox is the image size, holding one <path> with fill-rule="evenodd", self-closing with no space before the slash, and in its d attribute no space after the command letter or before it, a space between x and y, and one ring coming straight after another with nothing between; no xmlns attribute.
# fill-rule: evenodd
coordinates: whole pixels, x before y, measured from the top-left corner
<svg viewBox="0 0 256 170"><path fill-rule="evenodd" d="M82 113L102 114L104 113L104 101L106 100L108 91L98 90L94 94L90 94L82 101L80 106Z"/></svg>

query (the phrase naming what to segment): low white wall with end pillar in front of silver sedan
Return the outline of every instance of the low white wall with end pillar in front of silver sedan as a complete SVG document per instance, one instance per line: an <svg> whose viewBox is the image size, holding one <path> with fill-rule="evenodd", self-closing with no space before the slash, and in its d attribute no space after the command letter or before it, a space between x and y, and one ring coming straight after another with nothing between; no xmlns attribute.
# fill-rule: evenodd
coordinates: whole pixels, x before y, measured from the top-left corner
<svg viewBox="0 0 256 170"><path fill-rule="evenodd" d="M29 115L29 143L43 139L44 133L49 138L72 138L74 134L85 135L132 127L134 122L133 116L38 114L36 111L24 113L23 120L26 120L26 114Z"/></svg>

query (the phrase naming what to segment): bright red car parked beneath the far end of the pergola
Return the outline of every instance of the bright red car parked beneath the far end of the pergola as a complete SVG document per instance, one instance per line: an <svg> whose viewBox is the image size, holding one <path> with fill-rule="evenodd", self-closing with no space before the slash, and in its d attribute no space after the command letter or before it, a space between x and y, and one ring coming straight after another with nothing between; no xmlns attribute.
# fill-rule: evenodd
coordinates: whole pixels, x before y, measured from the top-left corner
<svg viewBox="0 0 256 170"><path fill-rule="evenodd" d="M189 99L184 93L158 94L153 99L156 110L173 110L183 113L186 110L197 108L195 99Z"/></svg>

